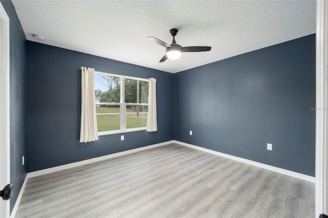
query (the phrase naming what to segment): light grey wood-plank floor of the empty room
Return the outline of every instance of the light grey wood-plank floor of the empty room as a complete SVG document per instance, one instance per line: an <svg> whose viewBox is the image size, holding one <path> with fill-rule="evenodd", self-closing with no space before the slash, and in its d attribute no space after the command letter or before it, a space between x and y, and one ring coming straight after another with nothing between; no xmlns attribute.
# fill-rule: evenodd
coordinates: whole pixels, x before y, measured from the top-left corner
<svg viewBox="0 0 328 218"><path fill-rule="evenodd" d="M314 217L315 184L170 144L30 178L16 217Z"/></svg>

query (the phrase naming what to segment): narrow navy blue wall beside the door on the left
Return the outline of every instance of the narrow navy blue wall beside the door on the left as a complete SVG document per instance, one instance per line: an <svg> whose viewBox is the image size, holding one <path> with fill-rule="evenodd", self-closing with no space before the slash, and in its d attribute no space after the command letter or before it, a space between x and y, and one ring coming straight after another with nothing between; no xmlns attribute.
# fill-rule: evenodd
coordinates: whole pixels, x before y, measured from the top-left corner
<svg viewBox="0 0 328 218"><path fill-rule="evenodd" d="M10 23L10 182L14 185L14 194L10 200L12 211L26 176L26 167L22 166L22 156L25 155L26 40L11 1L1 0L1 4Z"/></svg>

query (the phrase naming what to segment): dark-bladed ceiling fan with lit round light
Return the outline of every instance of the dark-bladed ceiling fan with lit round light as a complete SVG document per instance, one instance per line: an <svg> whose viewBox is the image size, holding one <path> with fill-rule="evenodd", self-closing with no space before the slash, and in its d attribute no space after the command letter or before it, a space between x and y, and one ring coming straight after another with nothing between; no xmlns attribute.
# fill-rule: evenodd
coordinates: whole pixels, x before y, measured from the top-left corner
<svg viewBox="0 0 328 218"><path fill-rule="evenodd" d="M177 29L171 29L170 30L171 35L173 36L173 41L171 43L171 45L169 45L166 42L163 42L153 36L149 36L147 38L149 38L150 40L154 41L155 43L157 43L160 46L163 46L166 48L166 55L164 57L162 57L162 59L160 59L159 62L164 62L166 61L168 58L170 59L178 59L182 52L207 52L207 51L211 51L212 47L209 46L189 46L189 47L182 47L180 45L178 45L175 41L175 36L178 33Z"/></svg>

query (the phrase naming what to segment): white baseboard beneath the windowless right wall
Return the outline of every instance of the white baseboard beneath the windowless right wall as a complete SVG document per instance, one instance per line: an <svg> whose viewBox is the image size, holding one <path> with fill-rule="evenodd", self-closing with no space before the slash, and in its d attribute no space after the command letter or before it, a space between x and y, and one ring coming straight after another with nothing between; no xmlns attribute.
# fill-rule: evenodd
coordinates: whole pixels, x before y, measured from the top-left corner
<svg viewBox="0 0 328 218"><path fill-rule="evenodd" d="M263 169L269 169L269 170L272 170L274 172L279 172L279 173L282 173L284 175L288 175L288 176L295 177L295 178L298 178L298 179L306 180L306 181L313 182L313 183L316 182L315 177L304 175L302 173L282 169L282 168L267 165L267 164L262 164L262 163L259 163L259 162L256 162L256 161L251 161L251 160L248 160L248 159L239 158L239 157L235 157L235 156L232 156L232 155L227 155L227 154L215 151L215 150L199 147L199 146L188 144L188 143L185 143L185 142L180 142L180 141L176 141L176 140L173 140L173 142L176 143L176 144L179 144L179 145L184 145L184 146L191 147L191 148L194 148L194 149L197 149L197 150L205 151L205 152L208 152L208 153L213 154L213 155L221 156L221 157L224 157L224 158L229 158L229 159L239 161L239 162L242 162L242 163L247 163L247 164L250 164L250 165L253 165L253 166L258 166L258 167L261 167Z"/></svg>

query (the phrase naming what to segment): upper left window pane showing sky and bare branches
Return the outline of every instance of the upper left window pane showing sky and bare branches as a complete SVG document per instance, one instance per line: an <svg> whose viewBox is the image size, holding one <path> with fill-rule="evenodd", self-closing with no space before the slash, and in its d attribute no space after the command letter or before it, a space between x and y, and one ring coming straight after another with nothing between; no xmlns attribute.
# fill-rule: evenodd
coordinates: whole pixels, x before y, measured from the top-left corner
<svg viewBox="0 0 328 218"><path fill-rule="evenodd" d="M96 102L120 102L120 77L94 74Z"/></svg>

